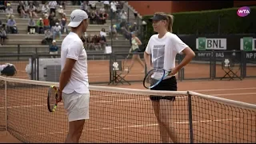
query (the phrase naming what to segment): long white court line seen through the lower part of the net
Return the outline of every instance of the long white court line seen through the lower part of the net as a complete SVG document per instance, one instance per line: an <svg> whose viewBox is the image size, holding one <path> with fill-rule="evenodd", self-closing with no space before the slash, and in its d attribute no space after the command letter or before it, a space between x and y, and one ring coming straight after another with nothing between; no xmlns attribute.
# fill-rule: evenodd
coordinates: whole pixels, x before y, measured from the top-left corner
<svg viewBox="0 0 256 144"><path fill-rule="evenodd" d="M229 121L238 121L244 119L255 119L255 118L228 118L228 119L215 119L215 120L202 120L202 121L193 121L192 123L205 123L205 122L229 122ZM174 122L174 124L189 124L190 122ZM137 127L148 127L148 126L158 126L158 123L146 124L146 125L133 125L133 126L116 126L116 127L103 127L99 129L89 129L89 130L82 130L82 131L94 131L94 130L114 130L114 129L126 129L126 128L137 128ZM67 133L60 131L60 132L49 132L49 133L38 133L38 134L25 134L25 136L33 136L33 135L46 135L46 134L64 134Z"/></svg>

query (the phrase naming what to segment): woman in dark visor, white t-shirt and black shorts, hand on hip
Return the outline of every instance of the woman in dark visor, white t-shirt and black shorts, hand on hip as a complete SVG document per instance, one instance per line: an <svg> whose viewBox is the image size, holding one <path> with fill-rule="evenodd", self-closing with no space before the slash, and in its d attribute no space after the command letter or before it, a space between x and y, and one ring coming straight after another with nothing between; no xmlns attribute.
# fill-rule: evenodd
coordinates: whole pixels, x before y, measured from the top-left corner
<svg viewBox="0 0 256 144"><path fill-rule="evenodd" d="M194 51L190 49L176 34L172 34L172 26L174 18L172 15L164 13L156 13L153 18L150 18L153 22L154 31L158 34L151 36L146 50L144 52L144 59L146 62L147 70L154 68L162 68L165 70L171 70L170 75L175 75L183 66L186 66L192 58L194 58ZM185 54L185 58L182 62L175 66L176 54ZM150 64L150 55L152 59L152 65ZM177 80L176 77L168 77L154 87L154 90L173 90L177 91ZM167 100L167 104L160 112L161 99ZM154 114L158 120L158 126L160 130L160 136L162 142L169 143L171 139L174 143L181 142L178 139L177 134L173 130L173 124L170 122L170 110L173 107L175 96L161 97L161 96L150 96L152 105L154 108ZM166 101L162 101L166 102ZM161 102L161 103L162 103ZM167 114L162 114L166 113ZM160 115L162 114L162 115Z"/></svg>

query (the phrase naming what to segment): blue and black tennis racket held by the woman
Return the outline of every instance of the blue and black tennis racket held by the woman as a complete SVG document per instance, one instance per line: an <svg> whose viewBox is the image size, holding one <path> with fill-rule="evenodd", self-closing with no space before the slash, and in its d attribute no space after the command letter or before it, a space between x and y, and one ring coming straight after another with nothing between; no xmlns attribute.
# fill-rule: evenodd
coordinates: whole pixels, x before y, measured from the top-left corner
<svg viewBox="0 0 256 144"><path fill-rule="evenodd" d="M164 70L164 69L152 69L149 72L147 72L145 78L143 79L143 86L146 89L152 89L155 86L158 86L158 84L167 76L171 77L169 75L171 70Z"/></svg>

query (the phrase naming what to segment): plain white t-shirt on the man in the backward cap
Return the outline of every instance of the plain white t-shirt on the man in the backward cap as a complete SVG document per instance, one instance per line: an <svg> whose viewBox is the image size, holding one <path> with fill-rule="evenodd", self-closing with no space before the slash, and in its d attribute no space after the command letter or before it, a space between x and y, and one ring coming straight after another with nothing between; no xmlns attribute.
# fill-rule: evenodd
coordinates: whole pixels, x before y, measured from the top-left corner
<svg viewBox="0 0 256 144"><path fill-rule="evenodd" d="M63 93L70 94L76 91L79 94L89 93L89 80L87 73L87 54L78 34L70 32L62 42L62 70L66 63L66 58L76 60L71 72L70 81L62 90Z"/></svg>

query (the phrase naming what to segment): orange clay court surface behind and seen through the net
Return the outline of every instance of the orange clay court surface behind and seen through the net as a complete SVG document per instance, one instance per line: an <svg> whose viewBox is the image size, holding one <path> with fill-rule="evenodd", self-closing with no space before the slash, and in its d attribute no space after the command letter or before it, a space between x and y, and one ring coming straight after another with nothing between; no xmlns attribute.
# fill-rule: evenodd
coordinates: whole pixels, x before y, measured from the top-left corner
<svg viewBox="0 0 256 144"><path fill-rule="evenodd" d="M88 65L90 82L107 82L109 80L108 62L90 61ZM18 62L15 66L20 71L16 77L27 79L24 72L26 62ZM216 69L218 77L225 74L220 66L217 66ZM126 79L141 80L144 76L141 71L142 67L135 64ZM248 74L256 75L256 68L248 68ZM186 78L207 78L209 75L209 64L191 63L186 66ZM201 94L256 104L255 83L255 78L246 78L242 81L219 81L218 79L214 81L183 81L178 82L178 91L193 90ZM132 83L131 86L118 85L117 87L144 89L142 82ZM46 91L46 87L18 88L7 91L7 95L10 95L8 99L9 126L15 127L15 130L11 130L14 134L25 134L23 138L30 142L40 142L40 139L43 142L52 142L54 137L57 137L54 141L62 142L65 138L66 113L62 105L58 106L58 111L54 114L47 111ZM170 110L173 116L171 122L178 130L178 137L182 139L182 142L189 142L187 99L182 95L179 97ZM0 102L1 106L3 99ZM193 99L192 104L194 142L256 142L254 136L256 131L255 110L236 109L234 106L205 101L197 97ZM170 102L163 101L161 103L162 110L168 111L169 108ZM4 113L3 109L0 111ZM2 115L0 118L2 121ZM61 123L61 125L56 126L57 123ZM0 135L0 142L19 142L9 133L0 132ZM159 142L158 135L158 123L148 96L91 91L90 120L86 122L82 134L83 142ZM254 136L254 138L250 136Z"/></svg>

